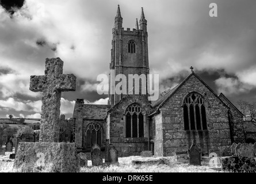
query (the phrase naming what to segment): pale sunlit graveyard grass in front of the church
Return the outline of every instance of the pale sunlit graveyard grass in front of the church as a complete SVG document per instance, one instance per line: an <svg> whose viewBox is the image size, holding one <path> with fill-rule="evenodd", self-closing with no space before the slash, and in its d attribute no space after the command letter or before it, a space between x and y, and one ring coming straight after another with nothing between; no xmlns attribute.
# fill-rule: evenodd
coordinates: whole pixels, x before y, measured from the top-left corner
<svg viewBox="0 0 256 184"><path fill-rule="evenodd" d="M168 164L132 164L132 160L146 161L152 158L143 158L142 156L129 156L119 158L119 166L110 165L108 167L93 166L81 167L81 173L223 173L223 171L212 170L209 167L208 160L202 160L202 166L190 166L188 160L179 159L178 162L173 161ZM159 159L159 158L154 158ZM165 157L165 159L169 159ZM171 158L170 158L171 160ZM46 164L43 170L36 168L33 171L26 171L24 168L13 168L13 160L9 158L0 161L0 173L54 173L51 164Z"/></svg>

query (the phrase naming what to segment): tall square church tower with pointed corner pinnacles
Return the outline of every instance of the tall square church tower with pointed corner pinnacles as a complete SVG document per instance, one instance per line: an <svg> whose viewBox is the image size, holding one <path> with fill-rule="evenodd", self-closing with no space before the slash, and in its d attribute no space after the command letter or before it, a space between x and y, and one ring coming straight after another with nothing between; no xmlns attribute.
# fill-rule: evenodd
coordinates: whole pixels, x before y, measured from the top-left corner
<svg viewBox="0 0 256 184"><path fill-rule="evenodd" d="M135 28L124 30L123 18L121 17L120 6L118 5L112 34L111 62L109 66L109 104L115 105L124 95L131 93L147 97L147 74L149 74L150 68L148 66L147 20L144 16L143 7L139 22L136 18ZM116 81L116 76L120 76L119 74L126 76L125 81L123 81L123 78ZM136 79L133 79L133 86L129 86L129 74L133 76L135 74L139 75L140 79L137 80L139 82L139 89L135 87ZM146 81L142 79L143 76L146 76ZM123 86L119 87L121 81L123 81ZM131 84L131 80L129 81ZM127 86L126 90L125 83Z"/></svg>

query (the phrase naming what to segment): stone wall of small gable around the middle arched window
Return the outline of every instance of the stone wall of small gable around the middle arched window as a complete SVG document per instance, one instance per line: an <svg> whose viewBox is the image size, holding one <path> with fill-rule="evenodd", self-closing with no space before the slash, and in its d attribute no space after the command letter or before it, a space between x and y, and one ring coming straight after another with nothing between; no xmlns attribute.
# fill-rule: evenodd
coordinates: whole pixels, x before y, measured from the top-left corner
<svg viewBox="0 0 256 184"><path fill-rule="evenodd" d="M144 124L144 137L126 138L124 112L133 102L139 104L148 114L151 110L150 103L141 95L127 95L119 104L110 111L110 144L119 152L119 156L140 155L148 150L148 122Z"/></svg>

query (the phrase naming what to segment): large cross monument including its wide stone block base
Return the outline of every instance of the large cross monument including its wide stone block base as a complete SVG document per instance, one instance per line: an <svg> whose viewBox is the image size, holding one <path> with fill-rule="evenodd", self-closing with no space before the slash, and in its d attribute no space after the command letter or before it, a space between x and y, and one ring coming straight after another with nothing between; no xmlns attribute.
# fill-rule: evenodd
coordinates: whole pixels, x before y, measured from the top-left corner
<svg viewBox="0 0 256 184"><path fill-rule="evenodd" d="M40 138L36 143L19 143L14 167L25 166L26 170L33 170L53 163L56 172L79 171L75 143L58 143L61 94L62 91L75 91L75 87L75 75L63 74L63 61L59 57L45 60L44 75L30 76L29 89L43 92Z"/></svg>

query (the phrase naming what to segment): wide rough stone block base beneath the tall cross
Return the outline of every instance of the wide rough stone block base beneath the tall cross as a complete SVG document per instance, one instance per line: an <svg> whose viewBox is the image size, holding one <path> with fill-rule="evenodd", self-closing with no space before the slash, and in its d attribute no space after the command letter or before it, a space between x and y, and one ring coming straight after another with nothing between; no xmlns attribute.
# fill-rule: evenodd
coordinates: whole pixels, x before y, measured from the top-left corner
<svg viewBox="0 0 256 184"><path fill-rule="evenodd" d="M18 146L14 167L33 171L37 167L52 164L55 172L74 173L79 171L79 160L75 143L26 143Z"/></svg>

